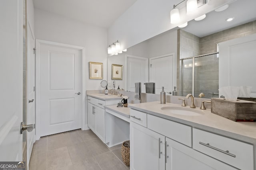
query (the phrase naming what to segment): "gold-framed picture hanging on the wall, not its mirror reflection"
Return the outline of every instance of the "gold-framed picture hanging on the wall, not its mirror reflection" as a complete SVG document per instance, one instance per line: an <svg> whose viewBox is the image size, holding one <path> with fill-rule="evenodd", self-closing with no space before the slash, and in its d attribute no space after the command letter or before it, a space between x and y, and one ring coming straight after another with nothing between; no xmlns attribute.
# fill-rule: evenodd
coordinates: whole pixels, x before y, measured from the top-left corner
<svg viewBox="0 0 256 170"><path fill-rule="evenodd" d="M89 62L90 79L103 79L103 63Z"/></svg>

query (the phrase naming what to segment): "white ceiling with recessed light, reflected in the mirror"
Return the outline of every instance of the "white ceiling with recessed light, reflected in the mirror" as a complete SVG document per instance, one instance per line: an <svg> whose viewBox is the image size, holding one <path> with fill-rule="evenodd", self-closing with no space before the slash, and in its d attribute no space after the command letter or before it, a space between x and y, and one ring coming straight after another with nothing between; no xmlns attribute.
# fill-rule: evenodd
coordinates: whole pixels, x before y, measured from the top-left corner
<svg viewBox="0 0 256 170"><path fill-rule="evenodd" d="M226 10L222 12L212 11L206 14L206 18L201 21L191 20L188 22L188 26L182 29L198 37L204 37L250 21L255 21L255 7L256 0L236 0L230 3ZM234 17L234 20L227 22L226 19L230 17Z"/></svg>

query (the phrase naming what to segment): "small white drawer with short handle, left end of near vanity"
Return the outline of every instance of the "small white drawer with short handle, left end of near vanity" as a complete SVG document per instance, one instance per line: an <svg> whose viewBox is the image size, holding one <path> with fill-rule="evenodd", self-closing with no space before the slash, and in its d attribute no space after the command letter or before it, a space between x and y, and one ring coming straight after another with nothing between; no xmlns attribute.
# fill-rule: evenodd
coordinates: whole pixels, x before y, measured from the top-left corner
<svg viewBox="0 0 256 170"><path fill-rule="evenodd" d="M139 125L147 127L147 114L142 111L131 109L130 120L138 123Z"/></svg>

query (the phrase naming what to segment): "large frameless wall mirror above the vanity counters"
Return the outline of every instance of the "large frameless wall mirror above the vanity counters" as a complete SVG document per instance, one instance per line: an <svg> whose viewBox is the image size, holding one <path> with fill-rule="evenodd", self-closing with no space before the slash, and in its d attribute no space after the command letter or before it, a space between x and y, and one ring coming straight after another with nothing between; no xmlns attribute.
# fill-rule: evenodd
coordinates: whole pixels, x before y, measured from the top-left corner
<svg viewBox="0 0 256 170"><path fill-rule="evenodd" d="M226 10L206 14L204 20L191 20L184 28L171 29L108 57L108 82L113 81L112 64L119 64L123 76L115 81L124 90L134 91L134 83L142 82L142 92L146 92L144 83L155 82L156 94L162 86L166 92L176 86L178 96L193 93L197 97L203 92L204 98L218 97L218 44L256 33L254 6L255 0L234 1ZM228 22L228 18L234 20Z"/></svg>

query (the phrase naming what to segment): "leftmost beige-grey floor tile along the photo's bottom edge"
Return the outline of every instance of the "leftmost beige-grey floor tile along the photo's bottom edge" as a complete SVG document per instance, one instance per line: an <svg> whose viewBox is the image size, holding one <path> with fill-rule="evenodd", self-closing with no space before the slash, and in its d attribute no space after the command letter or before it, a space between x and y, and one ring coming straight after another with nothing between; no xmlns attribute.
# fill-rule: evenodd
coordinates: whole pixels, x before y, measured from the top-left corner
<svg viewBox="0 0 256 170"><path fill-rule="evenodd" d="M30 157L29 169L30 170L46 170L47 167L47 154L35 154Z"/></svg>

